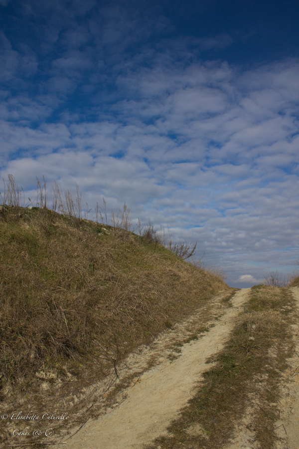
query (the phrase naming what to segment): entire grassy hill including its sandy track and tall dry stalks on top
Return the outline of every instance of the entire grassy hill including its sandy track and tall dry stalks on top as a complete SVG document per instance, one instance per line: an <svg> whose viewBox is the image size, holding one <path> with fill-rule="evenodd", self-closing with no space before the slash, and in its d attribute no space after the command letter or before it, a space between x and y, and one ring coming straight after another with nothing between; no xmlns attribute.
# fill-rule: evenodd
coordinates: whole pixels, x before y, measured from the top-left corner
<svg viewBox="0 0 299 449"><path fill-rule="evenodd" d="M0 206L1 448L296 446L297 274L230 288L126 205L91 221L78 189L20 193Z"/></svg>

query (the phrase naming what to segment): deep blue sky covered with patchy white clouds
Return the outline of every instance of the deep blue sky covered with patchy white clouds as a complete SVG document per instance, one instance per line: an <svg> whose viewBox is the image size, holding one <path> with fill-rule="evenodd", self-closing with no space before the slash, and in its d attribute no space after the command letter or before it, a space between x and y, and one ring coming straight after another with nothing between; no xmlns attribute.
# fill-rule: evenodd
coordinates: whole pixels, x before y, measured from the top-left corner
<svg viewBox="0 0 299 449"><path fill-rule="evenodd" d="M292 273L298 19L297 0L0 0L0 176L125 201L231 286Z"/></svg>

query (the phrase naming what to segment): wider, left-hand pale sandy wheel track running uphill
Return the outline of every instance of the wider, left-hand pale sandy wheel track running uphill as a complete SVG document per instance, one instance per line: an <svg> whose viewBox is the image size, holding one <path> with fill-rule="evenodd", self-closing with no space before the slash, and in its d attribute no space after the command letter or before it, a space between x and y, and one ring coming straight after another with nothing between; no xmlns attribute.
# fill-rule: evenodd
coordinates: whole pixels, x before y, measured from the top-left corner
<svg viewBox="0 0 299 449"><path fill-rule="evenodd" d="M67 441L72 449L138 449L166 433L165 429L191 398L192 388L208 369L206 360L221 350L250 289L238 291L233 307L202 338L185 344L173 362L164 360L128 388L118 407L86 424Z"/></svg>

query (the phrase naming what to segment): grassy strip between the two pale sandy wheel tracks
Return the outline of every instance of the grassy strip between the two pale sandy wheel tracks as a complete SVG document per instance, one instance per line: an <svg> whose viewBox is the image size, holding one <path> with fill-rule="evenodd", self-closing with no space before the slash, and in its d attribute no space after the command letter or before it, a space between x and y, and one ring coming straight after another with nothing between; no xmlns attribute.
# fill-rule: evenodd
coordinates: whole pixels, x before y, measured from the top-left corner
<svg viewBox="0 0 299 449"><path fill-rule="evenodd" d="M287 288L252 287L227 344L203 373L188 406L167 428L168 435L147 448L229 447L237 425L248 414L247 429L255 447L275 448L280 382L294 351L294 309Z"/></svg>

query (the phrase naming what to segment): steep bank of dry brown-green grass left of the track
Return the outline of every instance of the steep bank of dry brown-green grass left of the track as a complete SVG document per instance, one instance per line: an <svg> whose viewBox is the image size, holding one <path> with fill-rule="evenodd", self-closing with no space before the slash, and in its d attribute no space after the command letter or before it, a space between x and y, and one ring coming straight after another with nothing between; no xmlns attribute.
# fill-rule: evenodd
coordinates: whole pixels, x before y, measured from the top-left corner
<svg viewBox="0 0 299 449"><path fill-rule="evenodd" d="M0 207L0 273L2 387L24 391L113 366L229 289L148 234L47 208Z"/></svg>

